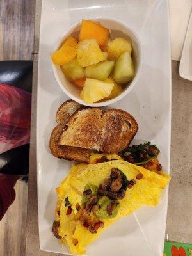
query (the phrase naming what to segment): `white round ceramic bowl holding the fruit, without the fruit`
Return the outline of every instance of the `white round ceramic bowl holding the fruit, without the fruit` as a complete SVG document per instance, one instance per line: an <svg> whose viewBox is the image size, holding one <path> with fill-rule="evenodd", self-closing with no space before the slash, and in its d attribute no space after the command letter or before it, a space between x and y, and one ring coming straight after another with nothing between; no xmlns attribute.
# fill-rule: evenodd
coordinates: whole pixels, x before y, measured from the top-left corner
<svg viewBox="0 0 192 256"><path fill-rule="evenodd" d="M56 81L60 85L61 89L63 92L65 92L70 99L75 100L76 102L83 104L85 106L91 106L91 107L102 107L102 106L107 106L109 104L113 104L116 101L122 99L127 95L129 92L131 92L132 88L135 86L135 84L138 81L138 78L140 77L141 74L141 66L143 62L143 54L142 54L142 49L141 49L141 42L140 39L138 38L138 35L136 34L135 31L133 31L129 26L124 24L123 22L116 20L116 19L111 19L111 18L97 18L97 19L92 19L95 22L99 22L102 24L104 27L108 28L111 32L110 37L111 39L114 39L118 36L124 37L124 38L129 38L131 39L132 42L132 58L134 61L134 66L135 66L135 76L134 78L127 84L124 84L124 90L120 95L115 97L114 99L111 100L106 100L104 102L95 102L93 104L88 104L84 102L80 98L80 90L78 88L70 83L67 78L64 76L63 72L61 71L61 68L59 65L52 65L54 76L56 78ZM63 35L60 36L56 46L54 47L54 51L56 51L60 45L63 43L63 41L69 36L72 35L76 37L77 39L79 38L79 29L80 29L81 21L73 24L68 28Z"/></svg>

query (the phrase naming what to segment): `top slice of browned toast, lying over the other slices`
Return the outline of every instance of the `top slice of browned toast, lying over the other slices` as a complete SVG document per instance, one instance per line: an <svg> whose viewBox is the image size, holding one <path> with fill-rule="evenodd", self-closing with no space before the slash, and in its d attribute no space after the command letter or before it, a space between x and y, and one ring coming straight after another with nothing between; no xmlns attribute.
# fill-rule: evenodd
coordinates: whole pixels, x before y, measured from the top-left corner
<svg viewBox="0 0 192 256"><path fill-rule="evenodd" d="M137 131L136 120L125 111L86 108L69 118L59 144L118 153L129 146Z"/></svg>

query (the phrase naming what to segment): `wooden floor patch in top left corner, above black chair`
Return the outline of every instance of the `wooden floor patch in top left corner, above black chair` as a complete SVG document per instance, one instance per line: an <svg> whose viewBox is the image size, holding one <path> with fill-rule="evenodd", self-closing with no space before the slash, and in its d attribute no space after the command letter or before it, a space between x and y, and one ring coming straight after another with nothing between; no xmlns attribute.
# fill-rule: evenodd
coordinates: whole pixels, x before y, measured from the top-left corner
<svg viewBox="0 0 192 256"><path fill-rule="evenodd" d="M0 1L0 60L31 60L35 0Z"/></svg>

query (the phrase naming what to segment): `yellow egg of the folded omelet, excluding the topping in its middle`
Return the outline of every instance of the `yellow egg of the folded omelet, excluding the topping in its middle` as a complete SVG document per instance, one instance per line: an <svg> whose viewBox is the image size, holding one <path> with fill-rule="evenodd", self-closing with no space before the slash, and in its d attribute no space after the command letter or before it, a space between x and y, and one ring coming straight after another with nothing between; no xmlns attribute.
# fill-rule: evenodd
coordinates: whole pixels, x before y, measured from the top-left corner
<svg viewBox="0 0 192 256"><path fill-rule="evenodd" d="M93 154L90 158L90 163L94 163L95 159L103 156L102 154ZM106 155L105 155L106 156ZM108 155L113 159L116 155ZM101 219L104 223L103 228L99 228L96 234L90 233L86 227L83 227L81 222L75 218L76 204L81 205L83 191L86 184L99 186L103 180L108 178L111 173L111 168L118 168L128 180L136 179L136 175L143 174L143 178L136 180L136 184L131 189L127 188L125 197L118 200L120 207L114 218ZM108 161L98 164L76 164L70 170L68 178L61 182L59 191L58 206L60 207L60 227L59 235L62 237L61 243L67 243L70 252L76 254L86 253L86 247L95 239L98 239L100 234L116 221L124 216L128 216L132 212L139 209L142 205L155 206L159 202L162 189L170 182L170 175L164 172L152 172L135 164L128 163L123 160ZM63 193L61 193L63 189ZM61 203L61 195L63 202ZM68 196L72 207L72 214L66 215L67 207L65 207L65 198ZM94 214L93 214L94 215ZM93 217L94 218L94 217ZM82 236L83 234L83 236ZM78 243L74 245L76 239Z"/></svg>

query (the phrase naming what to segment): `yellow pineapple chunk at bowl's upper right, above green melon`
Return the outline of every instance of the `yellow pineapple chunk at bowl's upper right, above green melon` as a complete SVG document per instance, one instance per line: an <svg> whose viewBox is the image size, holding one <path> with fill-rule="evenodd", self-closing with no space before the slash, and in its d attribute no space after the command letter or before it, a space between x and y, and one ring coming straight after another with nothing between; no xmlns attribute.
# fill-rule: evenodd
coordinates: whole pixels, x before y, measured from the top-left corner
<svg viewBox="0 0 192 256"><path fill-rule="evenodd" d="M117 60L125 51L131 54L132 46L128 39L117 37L113 41L108 42L108 59Z"/></svg>

